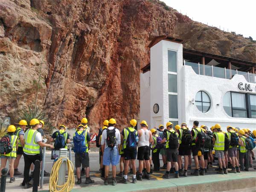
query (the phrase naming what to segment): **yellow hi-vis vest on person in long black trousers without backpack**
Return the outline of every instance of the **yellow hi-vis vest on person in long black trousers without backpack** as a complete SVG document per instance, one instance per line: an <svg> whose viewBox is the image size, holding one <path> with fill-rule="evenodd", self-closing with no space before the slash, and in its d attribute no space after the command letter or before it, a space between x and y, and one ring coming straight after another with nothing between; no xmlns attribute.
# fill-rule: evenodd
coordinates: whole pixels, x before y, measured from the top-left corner
<svg viewBox="0 0 256 192"><path fill-rule="evenodd" d="M35 142L35 135L38 131L29 129L24 134L25 145L23 151L28 154L40 154L40 145Z"/></svg>

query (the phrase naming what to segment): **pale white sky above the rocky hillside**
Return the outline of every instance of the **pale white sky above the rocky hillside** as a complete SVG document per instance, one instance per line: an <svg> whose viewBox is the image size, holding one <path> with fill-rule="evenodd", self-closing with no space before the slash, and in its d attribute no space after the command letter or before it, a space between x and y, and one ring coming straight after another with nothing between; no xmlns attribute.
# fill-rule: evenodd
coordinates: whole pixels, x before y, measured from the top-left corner
<svg viewBox="0 0 256 192"><path fill-rule="evenodd" d="M256 40L256 0L162 0L191 19Z"/></svg>

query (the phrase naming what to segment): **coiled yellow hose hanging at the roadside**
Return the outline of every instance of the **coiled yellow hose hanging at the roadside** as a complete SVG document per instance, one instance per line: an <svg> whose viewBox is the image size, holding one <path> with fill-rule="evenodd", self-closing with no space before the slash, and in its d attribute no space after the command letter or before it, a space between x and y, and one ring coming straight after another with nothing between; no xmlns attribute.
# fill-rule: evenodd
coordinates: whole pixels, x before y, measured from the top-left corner
<svg viewBox="0 0 256 192"><path fill-rule="evenodd" d="M70 192L75 185L74 166L73 163L67 158L67 170L68 177L67 182L64 185L57 185L58 182L58 170L61 167L62 159L59 158L52 167L52 172L49 180L49 191L50 192ZM59 189L59 190L58 190Z"/></svg>

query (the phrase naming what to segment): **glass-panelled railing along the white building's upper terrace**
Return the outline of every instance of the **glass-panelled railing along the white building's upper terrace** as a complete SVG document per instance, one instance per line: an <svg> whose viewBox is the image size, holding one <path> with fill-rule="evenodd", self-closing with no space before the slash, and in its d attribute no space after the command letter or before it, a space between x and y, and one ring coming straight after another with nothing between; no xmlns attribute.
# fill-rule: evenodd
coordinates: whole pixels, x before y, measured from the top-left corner
<svg viewBox="0 0 256 192"><path fill-rule="evenodd" d="M243 72L238 70L230 70L221 67L214 67L213 65L203 65L200 63L192 63L188 61L184 61L184 65L192 67L192 69L195 71L198 75L204 75L204 76L212 76L212 77L218 77L222 79L232 79L234 75L242 75L248 81L249 83L256 83L256 74L249 73L249 72Z"/></svg>

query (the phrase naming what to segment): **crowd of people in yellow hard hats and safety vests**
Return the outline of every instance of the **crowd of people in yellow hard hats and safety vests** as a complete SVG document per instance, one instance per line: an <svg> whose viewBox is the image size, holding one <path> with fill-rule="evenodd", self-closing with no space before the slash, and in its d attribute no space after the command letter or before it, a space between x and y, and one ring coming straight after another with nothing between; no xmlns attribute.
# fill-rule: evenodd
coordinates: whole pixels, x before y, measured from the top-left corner
<svg viewBox="0 0 256 192"><path fill-rule="evenodd" d="M88 120L83 118L73 134L78 184L82 182L81 175L86 175L86 184L94 183L90 178L88 154L90 128L87 123ZM50 145L43 139L44 121L32 119L28 126L23 119L18 124L17 128L15 125L9 125L6 135L0 139L0 171L6 167L9 160L9 182L14 182L14 175L21 174L17 168L23 155L25 165L22 186L29 188L33 184L33 164L36 160L42 161L41 147L46 146L54 150L67 148L70 135L65 131L65 125L60 125L58 131L55 131L49 139L50 142L54 142L54 145ZM96 145L99 147L100 172L104 184L108 185L111 164L112 185L116 185L118 164L120 166L118 176L122 177L122 183L128 183L129 172L133 175L132 183L137 183L137 180L150 180L150 174L159 172L160 169L166 170L164 178L170 178L172 174L175 178L187 177L188 169L191 169L192 157L195 161L195 169L191 175L195 176L205 175L207 169L215 162L215 158L218 159L219 164L216 169L218 174L249 171L255 159L253 148L256 145L256 130L227 126L225 132L221 125L216 124L210 131L205 125L199 126L198 121L194 121L192 130L189 130L186 123L174 126L172 122L167 122L166 127L159 125L159 128L149 130L145 120L140 122L140 129L137 130L136 119L131 119L126 128L118 129L116 120L112 118L103 122L103 127L99 129L96 137ZM163 160L162 167L160 167L160 155ZM139 161L138 170L136 159ZM31 175L29 175L30 169Z"/></svg>

